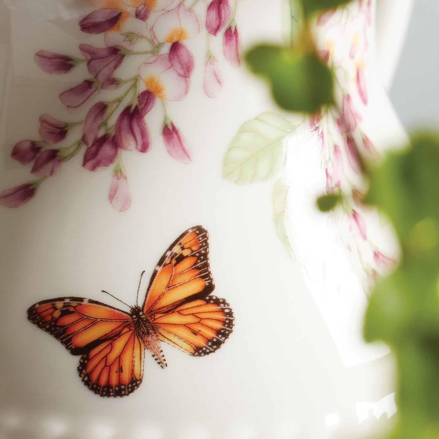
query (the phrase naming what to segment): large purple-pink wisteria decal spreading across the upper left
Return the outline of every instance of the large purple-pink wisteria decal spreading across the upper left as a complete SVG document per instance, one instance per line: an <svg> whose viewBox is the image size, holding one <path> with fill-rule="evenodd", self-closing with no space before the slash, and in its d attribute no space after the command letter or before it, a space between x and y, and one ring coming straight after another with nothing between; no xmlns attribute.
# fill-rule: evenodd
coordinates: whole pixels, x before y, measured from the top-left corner
<svg viewBox="0 0 439 439"><path fill-rule="evenodd" d="M236 21L239 0L211 0L204 11L203 2L198 7L199 0L190 5L176 0L87 1L95 9L79 21L79 28L100 35L101 46L81 44L78 57L40 50L34 58L52 75L83 69L83 81L59 96L72 115L65 119L72 120L42 115L40 139L21 140L14 146L11 157L31 166L30 172L38 178L2 191L1 205L18 207L28 202L43 181L57 175L82 151L85 169L100 171L112 166L108 198L116 210L125 211L131 196L122 156L125 151L148 152L150 129L159 130L173 158L186 164L193 160L191 145L168 111L191 89L196 62L187 42L207 33L205 77L199 86L209 97L216 97L223 86L211 39L222 35L225 58L234 67L241 65ZM122 64L129 68L122 72ZM124 77L124 72L131 76ZM152 127L148 113L158 104L163 123Z"/></svg>

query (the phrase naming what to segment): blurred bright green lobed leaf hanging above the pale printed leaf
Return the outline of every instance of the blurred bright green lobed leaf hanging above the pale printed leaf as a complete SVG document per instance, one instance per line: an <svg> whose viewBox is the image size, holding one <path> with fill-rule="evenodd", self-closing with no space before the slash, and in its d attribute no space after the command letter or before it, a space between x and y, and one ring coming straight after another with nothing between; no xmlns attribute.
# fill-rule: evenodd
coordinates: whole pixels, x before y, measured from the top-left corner
<svg viewBox="0 0 439 439"><path fill-rule="evenodd" d="M315 54L263 44L248 51L246 60L267 79L277 104L286 110L315 113L333 103L332 73Z"/></svg>

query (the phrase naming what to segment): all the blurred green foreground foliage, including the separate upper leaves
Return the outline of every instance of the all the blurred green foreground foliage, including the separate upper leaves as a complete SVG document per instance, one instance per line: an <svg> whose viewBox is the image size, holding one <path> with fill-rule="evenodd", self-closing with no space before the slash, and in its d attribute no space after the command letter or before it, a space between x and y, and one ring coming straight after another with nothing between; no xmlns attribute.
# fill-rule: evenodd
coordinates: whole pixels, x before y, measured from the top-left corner
<svg viewBox="0 0 439 439"><path fill-rule="evenodd" d="M332 73L317 57L310 37L314 13L345 4L297 0L290 5L286 47L260 45L247 53L252 70L270 83L282 108L314 113L333 104ZM284 8L285 11L285 8ZM284 18L285 21L285 18ZM403 146L403 145L401 145ZM402 246L402 260L376 284L365 323L367 341L389 344L398 366L398 424L389 439L439 438L439 137L420 134L410 145L367 169L370 190L364 202L389 214ZM336 195L317 200L333 209Z"/></svg>

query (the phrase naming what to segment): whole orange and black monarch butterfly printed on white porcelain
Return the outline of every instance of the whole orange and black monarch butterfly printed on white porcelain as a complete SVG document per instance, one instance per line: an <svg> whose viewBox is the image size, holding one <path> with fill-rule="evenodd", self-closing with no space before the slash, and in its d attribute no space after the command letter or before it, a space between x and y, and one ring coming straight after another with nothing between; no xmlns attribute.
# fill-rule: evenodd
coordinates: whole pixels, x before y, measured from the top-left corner
<svg viewBox="0 0 439 439"><path fill-rule="evenodd" d="M229 304L211 295L208 234L201 226L181 234L164 253L149 282L143 306L130 312L80 297L44 300L28 319L80 355L83 383L99 396L127 396L143 377L145 350L166 367L161 342L192 356L215 352L229 337Z"/></svg>

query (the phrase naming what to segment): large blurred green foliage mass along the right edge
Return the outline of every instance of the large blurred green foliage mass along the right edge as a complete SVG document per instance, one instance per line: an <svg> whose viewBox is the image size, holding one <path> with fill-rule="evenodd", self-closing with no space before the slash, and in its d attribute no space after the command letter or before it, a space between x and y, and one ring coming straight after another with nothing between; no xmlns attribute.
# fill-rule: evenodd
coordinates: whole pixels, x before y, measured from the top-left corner
<svg viewBox="0 0 439 439"><path fill-rule="evenodd" d="M374 288L367 341L398 362L399 423L392 439L439 437L439 137L421 134L368 173L365 202L389 213L403 249L399 268Z"/></svg>

